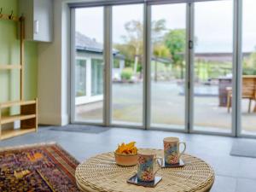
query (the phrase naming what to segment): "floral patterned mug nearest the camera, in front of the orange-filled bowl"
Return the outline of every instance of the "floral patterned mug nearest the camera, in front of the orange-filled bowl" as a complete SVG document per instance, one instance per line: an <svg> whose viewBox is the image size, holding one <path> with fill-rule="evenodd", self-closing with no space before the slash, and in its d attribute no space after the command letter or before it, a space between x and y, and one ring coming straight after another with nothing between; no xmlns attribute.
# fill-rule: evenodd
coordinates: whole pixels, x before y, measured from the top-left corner
<svg viewBox="0 0 256 192"><path fill-rule="evenodd" d="M160 160L161 165L158 164ZM156 165L159 168L156 169ZM139 150L137 153L137 179L142 182L153 182L156 172L163 165L163 160L156 157L156 154L150 150ZM156 169L156 170L155 170Z"/></svg>

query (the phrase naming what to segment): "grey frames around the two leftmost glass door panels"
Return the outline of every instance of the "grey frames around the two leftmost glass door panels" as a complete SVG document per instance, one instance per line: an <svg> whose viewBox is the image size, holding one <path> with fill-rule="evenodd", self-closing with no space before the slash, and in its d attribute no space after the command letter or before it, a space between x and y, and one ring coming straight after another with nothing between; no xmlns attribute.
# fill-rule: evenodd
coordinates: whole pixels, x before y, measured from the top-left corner
<svg viewBox="0 0 256 192"><path fill-rule="evenodd" d="M122 5L127 3L118 3L117 5ZM137 3L131 3L131 4L137 4ZM147 16L146 16L146 3L138 3L143 4L143 51L146 53L146 37L145 32L146 29L146 23L147 23ZM82 7L76 7L76 6L70 6L70 43L71 43L71 67L70 67L70 121L72 124L81 124L81 125L103 125L103 126L113 126L113 127L124 127L124 128L135 128L135 129L145 129L145 121L146 121L146 102L145 102L145 80L143 81L143 125L115 125L112 123L112 114L113 114L113 101L112 101L112 67L113 67L113 41L112 41L112 8L114 5L99 5L94 3L88 3L88 6L86 6L86 3L83 3ZM104 87L103 87L103 117L102 117L102 123L94 122L94 121L79 121L75 120L75 9L77 8L89 8L89 7L103 7L103 43L104 43L104 51L103 51L103 58L104 58L104 73L103 73L103 79L104 79ZM143 67L146 68L145 59L146 54L143 55ZM146 77L146 70L143 70L143 75Z"/></svg>

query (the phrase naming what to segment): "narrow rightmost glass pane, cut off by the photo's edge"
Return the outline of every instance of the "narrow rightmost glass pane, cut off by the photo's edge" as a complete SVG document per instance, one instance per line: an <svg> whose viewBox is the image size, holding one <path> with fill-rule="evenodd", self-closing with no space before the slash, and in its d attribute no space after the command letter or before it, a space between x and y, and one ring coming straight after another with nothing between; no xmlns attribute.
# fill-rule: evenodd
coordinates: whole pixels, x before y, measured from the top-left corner
<svg viewBox="0 0 256 192"><path fill-rule="evenodd" d="M241 131L256 134L256 2L242 3Z"/></svg>

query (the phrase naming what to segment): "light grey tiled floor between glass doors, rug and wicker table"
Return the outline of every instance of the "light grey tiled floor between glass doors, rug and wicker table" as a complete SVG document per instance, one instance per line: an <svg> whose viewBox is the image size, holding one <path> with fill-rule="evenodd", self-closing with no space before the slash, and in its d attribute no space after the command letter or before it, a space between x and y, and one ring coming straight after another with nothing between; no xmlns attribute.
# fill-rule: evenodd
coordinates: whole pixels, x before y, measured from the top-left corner
<svg viewBox="0 0 256 192"><path fill-rule="evenodd" d="M92 134L50 131L48 127L42 127L38 133L1 141L0 147L57 142L82 161L95 154L113 151L117 143L122 142L136 141L140 148L162 148L164 137L180 137L180 140L187 143L187 153L196 155L213 166L216 181L211 192L256 192L256 159L230 156L232 143L242 138L122 128Z"/></svg>

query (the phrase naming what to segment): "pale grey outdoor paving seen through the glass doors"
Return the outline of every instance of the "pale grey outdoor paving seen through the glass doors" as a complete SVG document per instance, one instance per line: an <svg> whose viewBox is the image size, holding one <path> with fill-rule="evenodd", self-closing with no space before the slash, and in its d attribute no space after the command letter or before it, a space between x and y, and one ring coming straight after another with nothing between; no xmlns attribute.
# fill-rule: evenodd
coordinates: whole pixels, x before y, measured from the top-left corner
<svg viewBox="0 0 256 192"><path fill-rule="evenodd" d="M175 81L152 84L151 122L156 127L183 128L185 97L183 85ZM102 102L76 108L76 119L102 119ZM218 85L195 86L195 129L231 130L231 113L218 107ZM254 102L252 105L252 110ZM247 113L248 100L242 100L241 124L244 131L256 132L256 113ZM143 84L113 84L113 122L142 124Z"/></svg>

